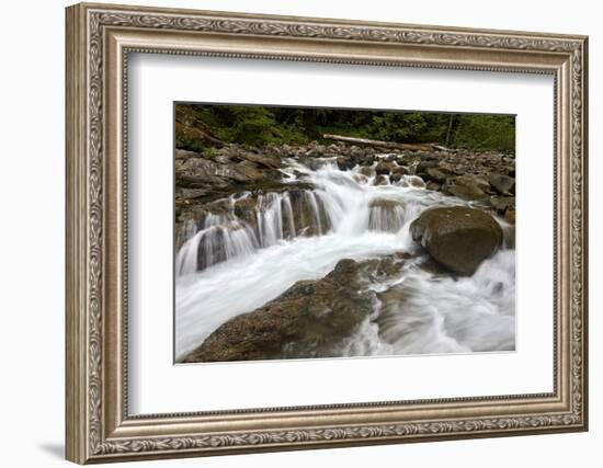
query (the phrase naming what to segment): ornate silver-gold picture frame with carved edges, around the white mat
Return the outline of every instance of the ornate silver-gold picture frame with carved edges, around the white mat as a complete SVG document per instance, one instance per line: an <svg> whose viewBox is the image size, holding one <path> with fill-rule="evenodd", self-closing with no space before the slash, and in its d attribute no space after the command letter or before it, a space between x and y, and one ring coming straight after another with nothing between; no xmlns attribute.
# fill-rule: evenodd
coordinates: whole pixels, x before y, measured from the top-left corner
<svg viewBox="0 0 603 468"><path fill-rule="evenodd" d="M88 3L69 7L66 23L69 460L588 429L587 37ZM555 213L554 232L547 235L554 238L553 391L132 415L126 164L132 54L551 76Z"/></svg>

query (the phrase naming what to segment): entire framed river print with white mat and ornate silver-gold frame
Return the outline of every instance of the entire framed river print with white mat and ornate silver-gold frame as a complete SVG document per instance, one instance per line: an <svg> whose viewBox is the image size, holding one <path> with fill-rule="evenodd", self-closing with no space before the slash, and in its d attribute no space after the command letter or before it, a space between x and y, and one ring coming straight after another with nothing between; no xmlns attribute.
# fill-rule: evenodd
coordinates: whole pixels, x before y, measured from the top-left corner
<svg viewBox="0 0 603 468"><path fill-rule="evenodd" d="M588 429L587 37L66 23L69 460Z"/></svg>

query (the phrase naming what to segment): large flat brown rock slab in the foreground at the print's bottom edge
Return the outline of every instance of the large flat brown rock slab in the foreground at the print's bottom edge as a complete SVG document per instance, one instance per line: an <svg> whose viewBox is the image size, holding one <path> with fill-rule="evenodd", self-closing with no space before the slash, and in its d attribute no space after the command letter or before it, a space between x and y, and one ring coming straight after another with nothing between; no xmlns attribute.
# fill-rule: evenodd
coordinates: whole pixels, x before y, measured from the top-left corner
<svg viewBox="0 0 603 468"><path fill-rule="evenodd" d="M373 312L364 281L399 272L403 256L340 261L321 279L300 281L276 299L221 324L183 362L334 357Z"/></svg>

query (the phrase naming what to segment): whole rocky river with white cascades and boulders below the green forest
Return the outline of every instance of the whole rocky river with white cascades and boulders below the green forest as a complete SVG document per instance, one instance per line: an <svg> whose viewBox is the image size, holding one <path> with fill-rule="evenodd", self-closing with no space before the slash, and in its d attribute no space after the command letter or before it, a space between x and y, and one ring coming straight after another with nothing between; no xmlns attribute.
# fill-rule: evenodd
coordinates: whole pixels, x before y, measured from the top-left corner
<svg viewBox="0 0 603 468"><path fill-rule="evenodd" d="M177 149L177 358L513 349L514 176L497 152Z"/></svg>

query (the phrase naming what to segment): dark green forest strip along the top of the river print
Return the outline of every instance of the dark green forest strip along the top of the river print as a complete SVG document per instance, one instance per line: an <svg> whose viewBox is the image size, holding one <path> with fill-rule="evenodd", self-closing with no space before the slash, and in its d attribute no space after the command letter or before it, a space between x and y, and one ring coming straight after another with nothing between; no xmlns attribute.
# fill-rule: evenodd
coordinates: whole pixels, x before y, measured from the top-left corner
<svg viewBox="0 0 603 468"><path fill-rule="evenodd" d="M192 132L191 128L196 128ZM514 153L515 117L261 105L175 105L177 148L211 157L217 142L254 147L305 145L325 134L396 142L430 142Z"/></svg>

